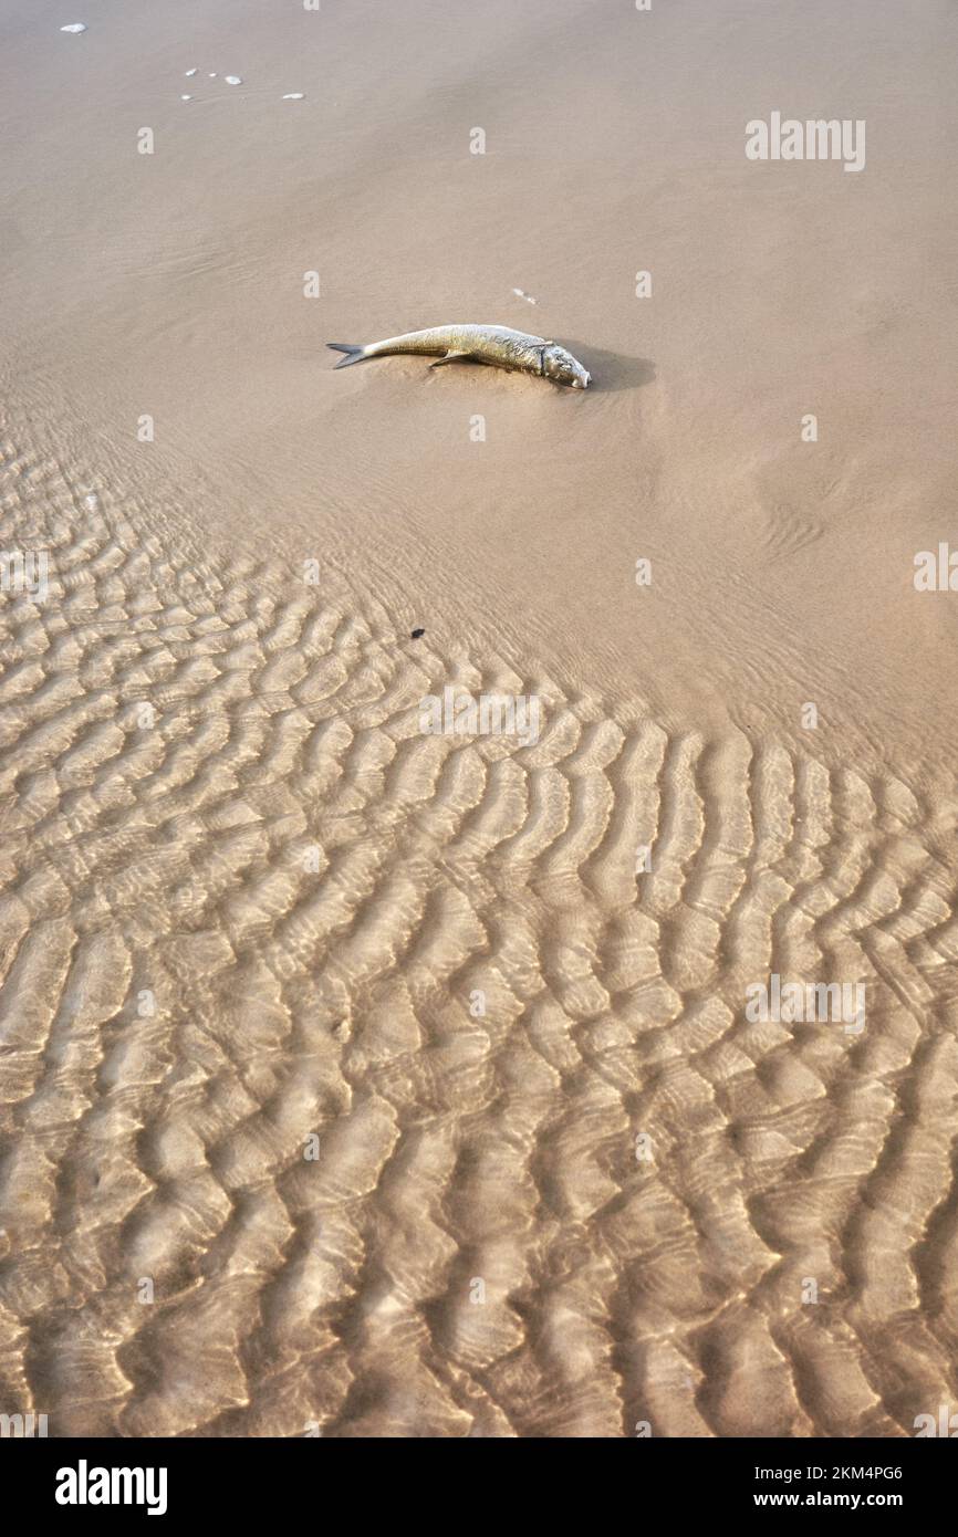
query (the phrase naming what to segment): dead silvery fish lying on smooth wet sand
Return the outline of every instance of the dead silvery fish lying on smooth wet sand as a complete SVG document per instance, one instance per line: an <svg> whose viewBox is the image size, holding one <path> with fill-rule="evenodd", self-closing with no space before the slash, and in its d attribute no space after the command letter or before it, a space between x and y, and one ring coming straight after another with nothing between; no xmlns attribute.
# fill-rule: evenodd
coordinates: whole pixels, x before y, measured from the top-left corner
<svg viewBox="0 0 958 1537"><path fill-rule="evenodd" d="M438 352L441 355L432 364L434 369L443 363L491 363L497 369L518 369L572 389L587 389L590 383L590 375L564 347L509 326L434 326L429 330L411 330L404 337L389 337L386 341L371 341L368 347L354 347L348 341L328 341L326 346L346 354L337 369L395 352L423 357Z"/></svg>

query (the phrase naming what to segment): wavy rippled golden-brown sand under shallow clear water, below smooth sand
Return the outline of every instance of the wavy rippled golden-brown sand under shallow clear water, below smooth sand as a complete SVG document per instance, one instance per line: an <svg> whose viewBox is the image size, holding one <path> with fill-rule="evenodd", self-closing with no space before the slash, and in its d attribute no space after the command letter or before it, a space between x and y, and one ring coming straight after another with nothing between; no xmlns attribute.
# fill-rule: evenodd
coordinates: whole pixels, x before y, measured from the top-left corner
<svg viewBox="0 0 958 1537"><path fill-rule="evenodd" d="M953 799L620 719L3 461L51 590L0 599L2 1409L898 1436L955 1397ZM538 692L543 736L420 735L446 682ZM864 982L866 1030L749 1024L772 971Z"/></svg>

